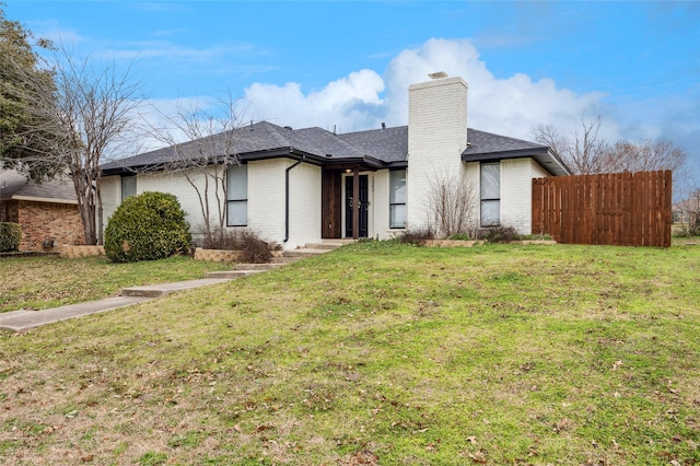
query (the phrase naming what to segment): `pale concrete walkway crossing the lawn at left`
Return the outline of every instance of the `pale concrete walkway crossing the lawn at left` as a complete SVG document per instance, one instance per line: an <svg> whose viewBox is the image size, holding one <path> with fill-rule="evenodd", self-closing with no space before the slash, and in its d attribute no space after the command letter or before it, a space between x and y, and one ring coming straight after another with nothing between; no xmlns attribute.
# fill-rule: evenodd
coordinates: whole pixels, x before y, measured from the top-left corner
<svg viewBox="0 0 700 466"><path fill-rule="evenodd" d="M208 287L230 281L222 278L205 278L201 280L187 280L175 283L152 284L148 287L133 287L121 290L118 298L107 298L100 301L90 301L80 304L69 304L43 311L13 311L0 314L0 328L14 331L24 331L30 328L52 324L59 321L96 314L118 307L130 306L143 301L164 296L166 294L191 290L194 288Z"/></svg>

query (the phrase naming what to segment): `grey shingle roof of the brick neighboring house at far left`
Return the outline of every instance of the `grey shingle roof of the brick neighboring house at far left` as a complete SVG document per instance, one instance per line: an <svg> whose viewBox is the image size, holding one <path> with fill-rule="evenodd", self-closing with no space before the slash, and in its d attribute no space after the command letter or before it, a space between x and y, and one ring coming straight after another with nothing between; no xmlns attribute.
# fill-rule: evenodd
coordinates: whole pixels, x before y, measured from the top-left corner
<svg viewBox="0 0 700 466"><path fill-rule="evenodd" d="M75 188L70 180L59 178L38 185L14 170L0 170L0 199L78 203Z"/></svg>

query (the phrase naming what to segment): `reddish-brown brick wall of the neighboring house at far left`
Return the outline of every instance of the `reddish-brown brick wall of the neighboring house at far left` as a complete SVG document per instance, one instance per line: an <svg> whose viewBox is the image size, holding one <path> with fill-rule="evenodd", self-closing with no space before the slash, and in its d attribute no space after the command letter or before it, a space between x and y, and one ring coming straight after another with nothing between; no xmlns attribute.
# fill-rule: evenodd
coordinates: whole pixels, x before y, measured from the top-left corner
<svg viewBox="0 0 700 466"><path fill-rule="evenodd" d="M52 238L58 245L85 244L78 206L70 203L16 201L16 222L22 228L20 251L45 251Z"/></svg>

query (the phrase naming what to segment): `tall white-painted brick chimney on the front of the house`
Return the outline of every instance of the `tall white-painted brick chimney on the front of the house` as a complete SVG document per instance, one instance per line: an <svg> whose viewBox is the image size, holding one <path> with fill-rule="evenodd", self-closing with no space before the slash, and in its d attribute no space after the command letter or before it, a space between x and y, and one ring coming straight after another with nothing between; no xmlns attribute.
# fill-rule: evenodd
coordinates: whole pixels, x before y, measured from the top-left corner
<svg viewBox="0 0 700 466"><path fill-rule="evenodd" d="M425 226L431 184L463 176L467 143L467 84L447 78L409 86L407 224Z"/></svg>

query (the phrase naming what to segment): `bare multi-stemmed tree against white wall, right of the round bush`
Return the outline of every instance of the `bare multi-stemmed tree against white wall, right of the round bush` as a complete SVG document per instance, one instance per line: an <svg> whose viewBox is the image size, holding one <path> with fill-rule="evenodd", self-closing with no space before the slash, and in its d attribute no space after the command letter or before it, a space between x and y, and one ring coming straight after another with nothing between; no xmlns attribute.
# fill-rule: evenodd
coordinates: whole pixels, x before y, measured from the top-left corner
<svg viewBox="0 0 700 466"><path fill-rule="evenodd" d="M168 128L151 126L152 137L171 147L166 170L180 174L195 190L203 219L205 242L221 242L226 219L226 171L238 165L235 129L243 124L241 101L229 93L213 105L179 106L161 115ZM186 142L178 141L184 137ZM213 218L217 218L214 221Z"/></svg>

